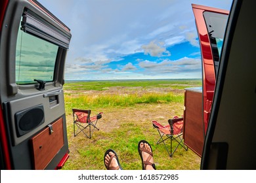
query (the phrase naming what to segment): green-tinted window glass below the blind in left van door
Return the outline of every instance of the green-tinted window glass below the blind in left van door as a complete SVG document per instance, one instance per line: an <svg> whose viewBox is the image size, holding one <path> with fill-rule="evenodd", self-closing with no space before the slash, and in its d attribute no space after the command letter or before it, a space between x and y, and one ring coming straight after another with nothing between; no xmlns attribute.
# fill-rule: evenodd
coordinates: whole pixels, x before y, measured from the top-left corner
<svg viewBox="0 0 256 183"><path fill-rule="evenodd" d="M34 79L53 81L58 46L18 31L16 44L16 84L35 83Z"/></svg>

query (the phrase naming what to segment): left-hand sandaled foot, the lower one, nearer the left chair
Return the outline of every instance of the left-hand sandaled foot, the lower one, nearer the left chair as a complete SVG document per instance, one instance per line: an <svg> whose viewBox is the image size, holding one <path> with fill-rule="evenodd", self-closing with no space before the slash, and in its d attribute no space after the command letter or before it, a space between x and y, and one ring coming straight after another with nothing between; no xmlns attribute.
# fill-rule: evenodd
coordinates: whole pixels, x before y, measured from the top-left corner
<svg viewBox="0 0 256 183"><path fill-rule="evenodd" d="M121 167L118 163L117 155L114 154L114 151L108 150L104 158L105 167L108 170L120 170Z"/></svg>

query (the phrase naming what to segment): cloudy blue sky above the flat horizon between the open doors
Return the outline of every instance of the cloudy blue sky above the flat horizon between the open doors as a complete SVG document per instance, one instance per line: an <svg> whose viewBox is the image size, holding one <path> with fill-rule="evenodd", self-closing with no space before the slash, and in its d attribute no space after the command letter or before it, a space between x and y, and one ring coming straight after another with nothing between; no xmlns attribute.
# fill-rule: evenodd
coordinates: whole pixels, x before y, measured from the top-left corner
<svg viewBox="0 0 256 183"><path fill-rule="evenodd" d="M191 4L232 0L38 0L70 27L66 80L201 78Z"/></svg>

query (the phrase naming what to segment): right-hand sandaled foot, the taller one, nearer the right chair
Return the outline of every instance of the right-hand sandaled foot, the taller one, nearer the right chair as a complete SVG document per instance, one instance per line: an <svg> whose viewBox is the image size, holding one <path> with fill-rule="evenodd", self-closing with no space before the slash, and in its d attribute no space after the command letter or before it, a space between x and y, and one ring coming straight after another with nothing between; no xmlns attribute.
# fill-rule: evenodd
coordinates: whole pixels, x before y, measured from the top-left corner
<svg viewBox="0 0 256 183"><path fill-rule="evenodd" d="M146 141L142 141L140 142L139 146L141 151L141 157L143 159L144 169L145 170L156 169L154 165L153 152L150 147L150 144L148 144Z"/></svg>

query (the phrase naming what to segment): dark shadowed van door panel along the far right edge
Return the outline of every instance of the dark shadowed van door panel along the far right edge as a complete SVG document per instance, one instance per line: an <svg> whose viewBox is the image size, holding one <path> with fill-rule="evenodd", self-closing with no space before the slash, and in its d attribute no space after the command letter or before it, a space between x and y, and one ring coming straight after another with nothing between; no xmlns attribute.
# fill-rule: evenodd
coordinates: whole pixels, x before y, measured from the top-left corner
<svg viewBox="0 0 256 183"><path fill-rule="evenodd" d="M232 4L201 169L256 169L255 7Z"/></svg>

